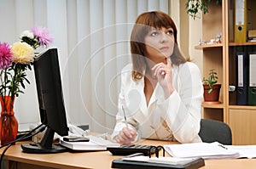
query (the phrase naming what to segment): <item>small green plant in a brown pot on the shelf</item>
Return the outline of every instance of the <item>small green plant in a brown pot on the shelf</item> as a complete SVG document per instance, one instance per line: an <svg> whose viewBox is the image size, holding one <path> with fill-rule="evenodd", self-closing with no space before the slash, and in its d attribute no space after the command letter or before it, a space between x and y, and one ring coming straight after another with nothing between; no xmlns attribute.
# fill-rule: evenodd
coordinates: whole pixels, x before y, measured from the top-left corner
<svg viewBox="0 0 256 169"><path fill-rule="evenodd" d="M218 82L218 75L215 69L209 70L208 78L203 78L203 87L204 87L204 99L205 102L211 103L219 103L219 91L221 84L217 84Z"/></svg>

